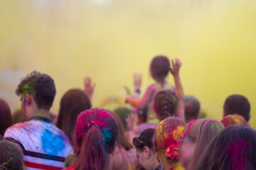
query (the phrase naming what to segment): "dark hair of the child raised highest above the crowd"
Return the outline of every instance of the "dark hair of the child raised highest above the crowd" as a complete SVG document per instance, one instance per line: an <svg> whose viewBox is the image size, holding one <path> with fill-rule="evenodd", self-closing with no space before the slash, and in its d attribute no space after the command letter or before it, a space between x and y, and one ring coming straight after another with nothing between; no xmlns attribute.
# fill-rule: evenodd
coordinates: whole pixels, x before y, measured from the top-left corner
<svg viewBox="0 0 256 170"><path fill-rule="evenodd" d="M170 62L164 55L158 55L151 60L150 72L153 79L163 80L169 73Z"/></svg>

